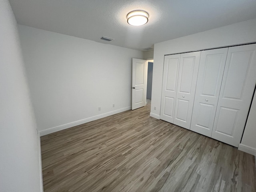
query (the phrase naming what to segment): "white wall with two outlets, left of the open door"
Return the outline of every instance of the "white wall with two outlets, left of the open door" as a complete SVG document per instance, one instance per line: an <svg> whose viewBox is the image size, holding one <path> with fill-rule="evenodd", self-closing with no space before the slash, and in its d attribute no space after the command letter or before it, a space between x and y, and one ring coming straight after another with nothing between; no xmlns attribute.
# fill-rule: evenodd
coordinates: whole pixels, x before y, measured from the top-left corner
<svg viewBox="0 0 256 192"><path fill-rule="evenodd" d="M131 108L132 58L142 52L23 25L18 30L41 135Z"/></svg>

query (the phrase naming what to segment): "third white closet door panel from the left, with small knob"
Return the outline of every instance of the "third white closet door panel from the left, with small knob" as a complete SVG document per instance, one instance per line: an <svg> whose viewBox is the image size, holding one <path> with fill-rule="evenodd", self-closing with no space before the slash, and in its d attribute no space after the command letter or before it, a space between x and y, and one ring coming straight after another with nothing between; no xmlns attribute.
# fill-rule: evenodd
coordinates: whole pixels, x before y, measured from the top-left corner
<svg viewBox="0 0 256 192"><path fill-rule="evenodd" d="M228 48L201 52L190 130L210 137Z"/></svg>

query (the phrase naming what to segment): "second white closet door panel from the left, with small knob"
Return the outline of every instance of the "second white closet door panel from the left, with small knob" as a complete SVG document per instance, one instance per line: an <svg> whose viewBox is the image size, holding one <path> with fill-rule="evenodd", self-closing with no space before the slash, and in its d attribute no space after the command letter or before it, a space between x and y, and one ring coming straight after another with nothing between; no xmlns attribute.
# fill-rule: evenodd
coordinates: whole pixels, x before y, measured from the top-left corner
<svg viewBox="0 0 256 192"><path fill-rule="evenodd" d="M180 56L173 123L186 129L190 129L200 53L184 53Z"/></svg>

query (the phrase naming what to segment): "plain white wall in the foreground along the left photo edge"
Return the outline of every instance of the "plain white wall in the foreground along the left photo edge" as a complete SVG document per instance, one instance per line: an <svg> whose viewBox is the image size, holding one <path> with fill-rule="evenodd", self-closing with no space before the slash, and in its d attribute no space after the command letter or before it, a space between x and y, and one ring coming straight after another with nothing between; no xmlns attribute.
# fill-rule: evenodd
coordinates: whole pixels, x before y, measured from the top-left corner
<svg viewBox="0 0 256 192"><path fill-rule="evenodd" d="M40 140L16 25L8 0L0 0L0 191L39 192Z"/></svg>

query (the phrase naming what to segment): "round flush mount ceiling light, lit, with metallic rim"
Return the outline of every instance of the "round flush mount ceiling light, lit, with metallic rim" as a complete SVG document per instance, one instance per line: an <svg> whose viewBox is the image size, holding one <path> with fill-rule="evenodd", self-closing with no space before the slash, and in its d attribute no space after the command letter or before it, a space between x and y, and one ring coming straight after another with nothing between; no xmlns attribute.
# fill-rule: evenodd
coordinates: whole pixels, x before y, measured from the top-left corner
<svg viewBox="0 0 256 192"><path fill-rule="evenodd" d="M132 11L127 14L127 22L133 26L141 26L148 22L148 13L142 10Z"/></svg>

